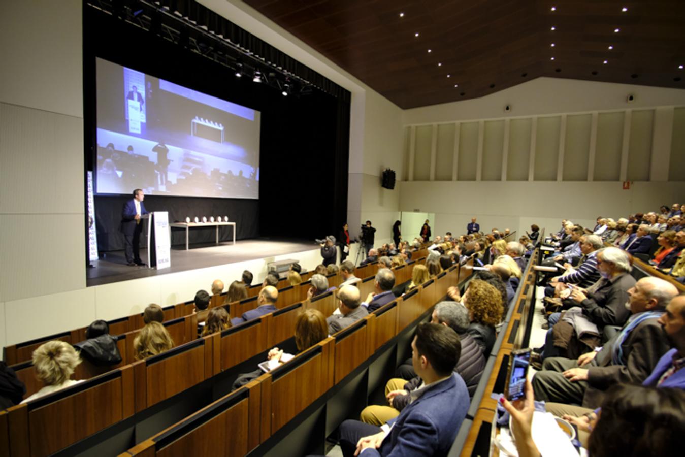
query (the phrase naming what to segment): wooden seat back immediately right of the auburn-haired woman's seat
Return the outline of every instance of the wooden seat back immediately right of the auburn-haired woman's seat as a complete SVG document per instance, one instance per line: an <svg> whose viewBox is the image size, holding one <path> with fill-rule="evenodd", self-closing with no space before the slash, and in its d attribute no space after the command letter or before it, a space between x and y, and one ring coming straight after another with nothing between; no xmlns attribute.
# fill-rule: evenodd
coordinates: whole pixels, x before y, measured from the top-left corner
<svg viewBox="0 0 685 457"><path fill-rule="evenodd" d="M371 356L369 328L373 324L369 325L369 321L372 319L375 319L373 314L332 335L335 339L334 382L336 384Z"/></svg>

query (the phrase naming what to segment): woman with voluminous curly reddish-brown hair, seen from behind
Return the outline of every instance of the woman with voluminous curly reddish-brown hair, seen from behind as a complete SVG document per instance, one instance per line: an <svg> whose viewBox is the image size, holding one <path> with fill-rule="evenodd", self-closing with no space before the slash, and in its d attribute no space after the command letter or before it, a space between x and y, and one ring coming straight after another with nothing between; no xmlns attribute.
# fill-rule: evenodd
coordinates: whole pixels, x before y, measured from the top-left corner
<svg viewBox="0 0 685 457"><path fill-rule="evenodd" d="M502 320L504 312L502 295L487 282L472 280L464 293L464 306L471 317L466 332L475 339L487 357L495 344L495 325Z"/></svg>

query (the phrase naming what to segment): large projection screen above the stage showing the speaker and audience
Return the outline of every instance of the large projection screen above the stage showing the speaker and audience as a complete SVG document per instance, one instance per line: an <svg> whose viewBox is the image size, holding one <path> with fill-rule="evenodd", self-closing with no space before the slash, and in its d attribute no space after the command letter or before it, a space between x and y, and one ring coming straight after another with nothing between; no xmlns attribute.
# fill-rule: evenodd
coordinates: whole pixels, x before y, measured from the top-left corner
<svg viewBox="0 0 685 457"><path fill-rule="evenodd" d="M260 112L97 58L95 192L259 198Z"/></svg>

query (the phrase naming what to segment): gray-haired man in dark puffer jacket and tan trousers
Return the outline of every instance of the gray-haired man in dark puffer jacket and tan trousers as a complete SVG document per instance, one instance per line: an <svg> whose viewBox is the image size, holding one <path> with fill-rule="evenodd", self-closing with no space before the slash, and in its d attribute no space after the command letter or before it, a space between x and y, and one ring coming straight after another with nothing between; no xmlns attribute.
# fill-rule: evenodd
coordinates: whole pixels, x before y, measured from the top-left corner
<svg viewBox="0 0 685 457"><path fill-rule="evenodd" d="M469 397L473 397L483 375L486 360L478 344L466 333L470 323L469 310L456 301L440 301L433 310L431 322L445 325L459 336L462 348L454 371L461 375L469 390ZM386 397L390 406L366 406L362 410L360 420L380 426L394 419L409 404L410 393L416 391L422 382L414 371L412 359L406 360L397 368L397 378L389 380L386 384Z"/></svg>

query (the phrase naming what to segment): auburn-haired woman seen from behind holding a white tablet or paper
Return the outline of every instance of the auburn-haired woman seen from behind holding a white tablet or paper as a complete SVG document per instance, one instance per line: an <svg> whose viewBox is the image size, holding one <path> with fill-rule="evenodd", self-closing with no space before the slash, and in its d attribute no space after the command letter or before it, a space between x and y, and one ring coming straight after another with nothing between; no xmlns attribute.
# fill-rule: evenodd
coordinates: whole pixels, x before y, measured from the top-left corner
<svg viewBox="0 0 685 457"><path fill-rule="evenodd" d="M295 346L298 354L326 338L328 338L328 324L321 311L308 309L297 317L297 321L295 321ZM260 364L260 366L265 366L264 369L271 371L294 357L295 354L286 354L282 349L274 347L266 355L266 360L269 363ZM248 382L259 378L263 373L264 371L260 368L250 373L238 375L238 379L233 383L233 389L245 386Z"/></svg>

